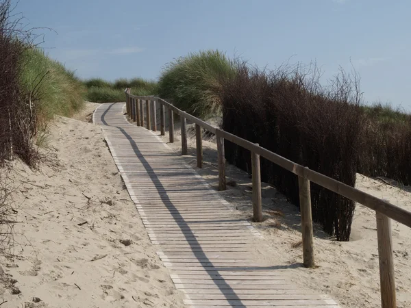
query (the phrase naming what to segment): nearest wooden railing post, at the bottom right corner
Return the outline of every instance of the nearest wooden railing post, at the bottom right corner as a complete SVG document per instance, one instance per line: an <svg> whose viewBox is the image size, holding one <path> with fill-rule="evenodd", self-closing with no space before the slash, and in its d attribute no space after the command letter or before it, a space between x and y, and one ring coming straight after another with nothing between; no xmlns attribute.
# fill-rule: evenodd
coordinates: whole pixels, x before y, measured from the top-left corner
<svg viewBox="0 0 411 308"><path fill-rule="evenodd" d="M390 218L377 211L379 281L382 308L397 307Z"/></svg>

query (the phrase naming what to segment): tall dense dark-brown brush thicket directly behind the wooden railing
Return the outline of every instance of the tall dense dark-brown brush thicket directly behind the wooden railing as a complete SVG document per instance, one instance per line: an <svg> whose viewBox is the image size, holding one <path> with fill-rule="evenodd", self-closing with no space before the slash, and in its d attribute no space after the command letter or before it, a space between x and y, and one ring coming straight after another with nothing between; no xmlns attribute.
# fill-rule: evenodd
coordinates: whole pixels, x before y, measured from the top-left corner
<svg viewBox="0 0 411 308"><path fill-rule="evenodd" d="M353 186L363 119L357 86L343 72L323 88L315 67L265 72L240 63L236 77L223 81L223 129ZM225 156L251 172L249 151L226 142ZM266 159L261 165L262 181L299 205L297 176ZM355 203L314 183L311 192L314 220L349 240Z"/></svg>

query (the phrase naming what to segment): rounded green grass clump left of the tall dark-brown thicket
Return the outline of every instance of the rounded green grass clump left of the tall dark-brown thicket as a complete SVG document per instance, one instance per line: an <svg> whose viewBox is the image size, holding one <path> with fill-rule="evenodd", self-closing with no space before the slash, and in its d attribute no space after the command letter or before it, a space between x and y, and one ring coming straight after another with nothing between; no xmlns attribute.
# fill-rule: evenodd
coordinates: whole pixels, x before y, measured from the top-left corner
<svg viewBox="0 0 411 308"><path fill-rule="evenodd" d="M190 114L210 118L221 114L221 79L235 74L233 62L221 51L190 53L166 65L159 94Z"/></svg>

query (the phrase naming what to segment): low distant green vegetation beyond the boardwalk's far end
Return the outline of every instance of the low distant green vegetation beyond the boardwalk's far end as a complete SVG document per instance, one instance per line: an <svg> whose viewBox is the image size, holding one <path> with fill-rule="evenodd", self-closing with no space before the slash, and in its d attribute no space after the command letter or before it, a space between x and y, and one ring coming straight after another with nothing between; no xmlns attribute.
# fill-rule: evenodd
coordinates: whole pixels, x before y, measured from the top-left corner
<svg viewBox="0 0 411 308"><path fill-rule="evenodd" d="M114 82L101 78L91 78L84 81L88 88L86 99L95 103L116 103L125 101L124 90L132 89L134 95L154 95L158 92L158 84L155 81L147 81L142 78L117 79Z"/></svg>

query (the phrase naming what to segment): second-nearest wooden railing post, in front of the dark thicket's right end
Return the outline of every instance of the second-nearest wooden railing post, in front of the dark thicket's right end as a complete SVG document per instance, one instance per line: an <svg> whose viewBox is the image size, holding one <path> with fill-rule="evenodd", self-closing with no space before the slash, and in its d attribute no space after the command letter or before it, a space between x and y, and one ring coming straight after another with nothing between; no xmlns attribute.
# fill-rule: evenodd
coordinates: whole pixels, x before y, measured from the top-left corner
<svg viewBox="0 0 411 308"><path fill-rule="evenodd" d="M308 168L307 168L308 169ZM303 235L303 264L314 268L314 240L312 232L310 180L306 175L298 177L301 213L301 233Z"/></svg>

